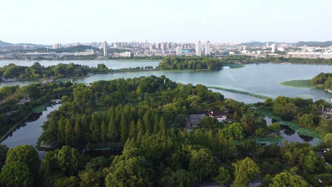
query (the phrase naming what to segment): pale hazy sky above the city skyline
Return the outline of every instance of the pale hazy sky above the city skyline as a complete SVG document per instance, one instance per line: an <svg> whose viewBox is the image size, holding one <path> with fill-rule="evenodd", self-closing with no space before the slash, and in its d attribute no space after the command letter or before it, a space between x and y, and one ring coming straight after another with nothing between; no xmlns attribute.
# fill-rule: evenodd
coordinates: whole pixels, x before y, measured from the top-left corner
<svg viewBox="0 0 332 187"><path fill-rule="evenodd" d="M332 0L1 0L0 40L332 40Z"/></svg>

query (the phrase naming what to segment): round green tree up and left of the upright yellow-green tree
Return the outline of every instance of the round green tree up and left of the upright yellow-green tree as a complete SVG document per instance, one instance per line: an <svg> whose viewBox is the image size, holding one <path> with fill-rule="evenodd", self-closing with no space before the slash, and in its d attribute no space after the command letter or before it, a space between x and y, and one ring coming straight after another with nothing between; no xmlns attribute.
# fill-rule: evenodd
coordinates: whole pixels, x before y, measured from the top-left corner
<svg viewBox="0 0 332 187"><path fill-rule="evenodd" d="M213 173L215 158L208 149L193 150L190 155L189 170L198 176L199 181Z"/></svg>

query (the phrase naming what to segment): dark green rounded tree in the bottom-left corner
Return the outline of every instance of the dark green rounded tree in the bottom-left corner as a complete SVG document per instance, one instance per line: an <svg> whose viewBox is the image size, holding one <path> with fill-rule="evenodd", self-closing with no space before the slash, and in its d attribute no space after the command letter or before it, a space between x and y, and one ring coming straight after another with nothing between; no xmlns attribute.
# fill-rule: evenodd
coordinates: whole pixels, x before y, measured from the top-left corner
<svg viewBox="0 0 332 187"><path fill-rule="evenodd" d="M20 161L7 163L0 173L0 185L3 187L31 187L33 173L28 164Z"/></svg>

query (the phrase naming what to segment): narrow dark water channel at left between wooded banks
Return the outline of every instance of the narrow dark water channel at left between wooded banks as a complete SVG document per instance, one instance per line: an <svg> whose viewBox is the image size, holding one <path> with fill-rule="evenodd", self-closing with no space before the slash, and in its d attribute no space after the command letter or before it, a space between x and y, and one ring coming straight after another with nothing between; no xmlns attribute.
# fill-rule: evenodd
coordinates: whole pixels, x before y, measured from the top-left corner
<svg viewBox="0 0 332 187"><path fill-rule="evenodd" d="M11 136L1 142L8 148L14 148L17 145L32 145L37 144L39 136L43 133L42 125L47 120L47 115L50 112L57 110L61 104L54 104L48 106L46 111L41 114L33 114L22 126L15 130ZM39 151L39 157L44 156L44 151Z"/></svg>

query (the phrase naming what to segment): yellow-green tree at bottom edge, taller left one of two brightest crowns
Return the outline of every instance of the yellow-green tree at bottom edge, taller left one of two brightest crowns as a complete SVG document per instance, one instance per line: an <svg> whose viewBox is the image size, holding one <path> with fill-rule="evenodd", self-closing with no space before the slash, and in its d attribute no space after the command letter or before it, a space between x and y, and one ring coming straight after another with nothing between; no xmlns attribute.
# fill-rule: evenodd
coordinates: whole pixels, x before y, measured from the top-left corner
<svg viewBox="0 0 332 187"><path fill-rule="evenodd" d="M235 168L232 187L248 187L249 181L260 173L259 167L249 157L232 165Z"/></svg>

